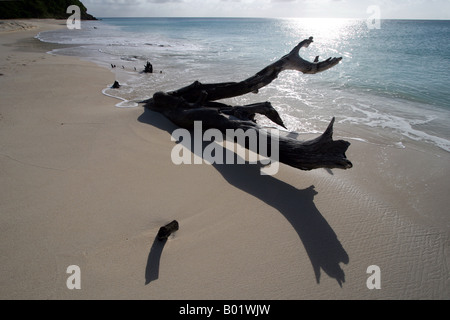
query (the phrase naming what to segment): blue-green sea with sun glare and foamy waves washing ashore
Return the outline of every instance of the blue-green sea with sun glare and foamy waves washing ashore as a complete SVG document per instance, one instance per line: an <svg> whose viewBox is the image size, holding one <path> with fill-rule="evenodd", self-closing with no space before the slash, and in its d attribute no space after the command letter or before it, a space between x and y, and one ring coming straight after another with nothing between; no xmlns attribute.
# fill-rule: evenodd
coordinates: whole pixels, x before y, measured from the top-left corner
<svg viewBox="0 0 450 320"><path fill-rule="evenodd" d="M110 68L122 87L107 84L103 93L116 97L117 107L131 108L195 80L244 80L313 36L303 58L342 62L316 75L285 71L257 95L226 102L270 101L288 130L300 134L322 132L336 117L336 127L372 134L362 139L346 132L346 138L396 148L413 141L450 152L450 21L382 20L374 29L346 19L103 18L81 27L37 38L68 45L52 54ZM141 73L146 61L154 73Z"/></svg>

